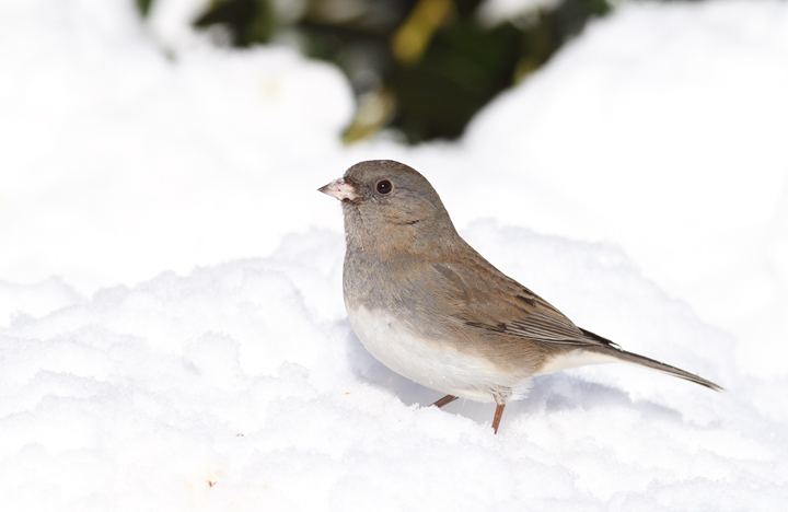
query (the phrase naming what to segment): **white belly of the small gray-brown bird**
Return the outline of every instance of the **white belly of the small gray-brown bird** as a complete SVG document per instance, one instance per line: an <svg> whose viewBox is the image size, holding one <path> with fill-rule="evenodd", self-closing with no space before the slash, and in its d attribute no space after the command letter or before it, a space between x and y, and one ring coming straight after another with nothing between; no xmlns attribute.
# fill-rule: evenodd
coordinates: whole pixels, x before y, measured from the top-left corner
<svg viewBox="0 0 788 512"><path fill-rule="evenodd" d="M350 325L367 350L412 381L476 402L495 402L494 394L508 394L507 388L512 388L512 398L528 391L528 382L502 372L485 358L461 352L441 340L414 336L385 312L346 306Z"/></svg>

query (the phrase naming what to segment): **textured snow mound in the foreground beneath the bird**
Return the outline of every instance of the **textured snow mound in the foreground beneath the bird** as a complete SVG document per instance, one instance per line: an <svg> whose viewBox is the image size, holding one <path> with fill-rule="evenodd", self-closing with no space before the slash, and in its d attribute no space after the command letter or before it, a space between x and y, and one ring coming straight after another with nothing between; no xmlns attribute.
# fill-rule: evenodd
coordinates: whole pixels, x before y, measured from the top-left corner
<svg viewBox="0 0 788 512"><path fill-rule="evenodd" d="M493 406L422 407L438 393L364 351L339 291L343 240L315 231L270 258L165 272L2 329L0 500L84 511L785 502L775 421L788 407L751 404L764 385L735 372L727 335L610 246L495 223L465 234L567 312L592 304L588 319L625 348L730 391L579 369L536 379L495 437Z"/></svg>

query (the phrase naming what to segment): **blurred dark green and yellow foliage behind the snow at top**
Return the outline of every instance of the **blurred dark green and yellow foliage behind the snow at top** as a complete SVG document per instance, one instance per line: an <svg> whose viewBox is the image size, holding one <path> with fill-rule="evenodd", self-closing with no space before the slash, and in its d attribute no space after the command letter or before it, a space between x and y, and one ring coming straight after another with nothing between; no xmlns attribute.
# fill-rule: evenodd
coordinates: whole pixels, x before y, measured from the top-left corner
<svg viewBox="0 0 788 512"><path fill-rule="evenodd" d="M144 16L157 0L137 0ZM456 139L606 0L210 0L193 26L221 46L281 44L339 67L358 108L343 139Z"/></svg>

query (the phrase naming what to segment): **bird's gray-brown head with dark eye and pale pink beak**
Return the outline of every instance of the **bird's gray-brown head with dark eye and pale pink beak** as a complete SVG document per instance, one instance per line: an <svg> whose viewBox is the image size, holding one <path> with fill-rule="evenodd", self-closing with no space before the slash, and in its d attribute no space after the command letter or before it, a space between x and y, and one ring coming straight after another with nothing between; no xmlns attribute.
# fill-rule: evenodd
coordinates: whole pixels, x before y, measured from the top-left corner
<svg viewBox="0 0 788 512"><path fill-rule="evenodd" d="M349 247L419 253L447 247L457 237L432 185L399 162L357 163L320 191L343 202Z"/></svg>

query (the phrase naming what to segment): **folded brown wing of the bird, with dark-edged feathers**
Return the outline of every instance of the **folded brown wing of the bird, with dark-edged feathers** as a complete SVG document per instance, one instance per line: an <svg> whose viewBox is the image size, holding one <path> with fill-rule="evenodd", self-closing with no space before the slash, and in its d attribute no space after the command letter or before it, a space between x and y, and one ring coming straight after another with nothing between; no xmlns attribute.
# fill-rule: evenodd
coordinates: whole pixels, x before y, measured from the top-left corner
<svg viewBox="0 0 788 512"><path fill-rule="evenodd" d="M615 346L576 326L547 301L507 277L478 254L432 267L453 291L451 300L455 316L470 326L533 341Z"/></svg>

